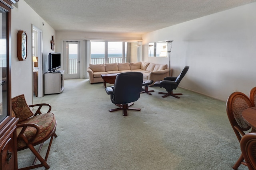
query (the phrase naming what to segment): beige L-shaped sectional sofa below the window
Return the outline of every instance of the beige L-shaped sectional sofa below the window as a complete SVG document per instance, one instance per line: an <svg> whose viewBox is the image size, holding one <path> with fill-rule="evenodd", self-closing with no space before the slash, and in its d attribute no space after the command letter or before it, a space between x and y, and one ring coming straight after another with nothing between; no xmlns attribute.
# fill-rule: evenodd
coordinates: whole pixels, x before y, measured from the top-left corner
<svg viewBox="0 0 256 170"><path fill-rule="evenodd" d="M136 63L89 64L89 67L87 68L91 84L103 82L101 74L130 71L142 72L144 80L153 80L152 84L158 80L164 80L164 77L169 76L169 68L167 64L154 64L143 61Z"/></svg>

